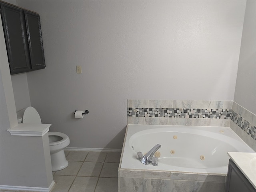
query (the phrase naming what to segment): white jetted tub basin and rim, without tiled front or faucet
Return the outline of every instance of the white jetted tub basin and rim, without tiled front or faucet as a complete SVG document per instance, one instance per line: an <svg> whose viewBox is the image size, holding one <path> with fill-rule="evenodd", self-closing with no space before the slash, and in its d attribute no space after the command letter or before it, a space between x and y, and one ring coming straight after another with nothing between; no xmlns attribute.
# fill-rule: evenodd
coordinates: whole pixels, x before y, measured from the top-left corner
<svg viewBox="0 0 256 192"><path fill-rule="evenodd" d="M162 147L158 166L144 165L136 153ZM128 125L120 168L227 174L227 152L254 152L229 127Z"/></svg>

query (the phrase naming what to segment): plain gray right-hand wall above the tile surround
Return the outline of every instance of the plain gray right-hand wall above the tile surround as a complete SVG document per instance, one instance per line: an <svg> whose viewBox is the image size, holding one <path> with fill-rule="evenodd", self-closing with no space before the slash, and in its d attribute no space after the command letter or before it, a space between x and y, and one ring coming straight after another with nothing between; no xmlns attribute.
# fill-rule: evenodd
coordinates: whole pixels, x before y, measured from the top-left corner
<svg viewBox="0 0 256 192"><path fill-rule="evenodd" d="M246 2L234 102L256 114L256 1Z"/></svg>

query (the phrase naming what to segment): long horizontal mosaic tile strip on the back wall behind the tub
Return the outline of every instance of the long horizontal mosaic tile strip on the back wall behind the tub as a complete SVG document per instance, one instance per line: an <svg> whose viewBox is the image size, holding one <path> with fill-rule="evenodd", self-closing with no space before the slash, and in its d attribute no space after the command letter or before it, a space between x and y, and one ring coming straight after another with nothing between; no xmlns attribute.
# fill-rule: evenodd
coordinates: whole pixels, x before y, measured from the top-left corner
<svg viewBox="0 0 256 192"><path fill-rule="evenodd" d="M127 117L229 119L232 109L127 108Z"/></svg>

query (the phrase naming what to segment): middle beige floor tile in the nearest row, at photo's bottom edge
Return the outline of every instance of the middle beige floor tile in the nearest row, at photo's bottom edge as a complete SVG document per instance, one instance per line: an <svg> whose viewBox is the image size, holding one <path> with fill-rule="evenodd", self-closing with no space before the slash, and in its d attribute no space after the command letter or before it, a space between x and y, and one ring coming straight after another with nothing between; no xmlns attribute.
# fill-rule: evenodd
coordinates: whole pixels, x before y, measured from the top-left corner
<svg viewBox="0 0 256 192"><path fill-rule="evenodd" d="M77 176L69 192L94 192L98 177Z"/></svg>

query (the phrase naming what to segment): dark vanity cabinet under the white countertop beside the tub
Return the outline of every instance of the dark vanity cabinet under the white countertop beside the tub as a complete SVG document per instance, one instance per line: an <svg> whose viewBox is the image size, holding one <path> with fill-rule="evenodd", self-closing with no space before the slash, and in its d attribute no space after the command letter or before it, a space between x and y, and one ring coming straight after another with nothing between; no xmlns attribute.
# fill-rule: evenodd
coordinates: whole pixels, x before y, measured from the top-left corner
<svg viewBox="0 0 256 192"><path fill-rule="evenodd" d="M229 160L228 164L225 192L256 192L256 189L232 160Z"/></svg>

